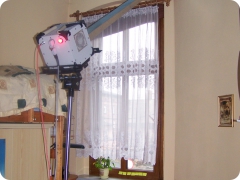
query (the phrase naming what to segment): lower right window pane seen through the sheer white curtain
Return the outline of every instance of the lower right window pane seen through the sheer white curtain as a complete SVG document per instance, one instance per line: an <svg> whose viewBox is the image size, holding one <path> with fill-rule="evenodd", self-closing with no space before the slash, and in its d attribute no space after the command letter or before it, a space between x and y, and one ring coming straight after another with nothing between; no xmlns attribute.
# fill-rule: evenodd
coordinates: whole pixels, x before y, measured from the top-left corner
<svg viewBox="0 0 240 180"><path fill-rule="evenodd" d="M150 162L156 141L155 75L129 76L128 87L128 135L133 159ZM147 147L147 149L146 149ZM141 151L146 150L146 154ZM136 160L134 160L135 162ZM134 167L142 163L135 163ZM148 165L148 164L147 164ZM148 167L148 166L147 166ZM148 167L149 168L149 167Z"/></svg>

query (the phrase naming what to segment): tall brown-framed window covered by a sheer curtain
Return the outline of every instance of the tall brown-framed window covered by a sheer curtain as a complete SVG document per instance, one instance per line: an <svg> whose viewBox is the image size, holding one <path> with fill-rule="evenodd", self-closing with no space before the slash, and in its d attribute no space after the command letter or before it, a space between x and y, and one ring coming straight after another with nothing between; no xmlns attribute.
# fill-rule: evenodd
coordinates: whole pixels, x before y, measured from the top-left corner
<svg viewBox="0 0 240 180"><path fill-rule="evenodd" d="M81 82L77 112L81 112L78 118L83 122L77 126L80 136L76 140L87 147L77 153L118 159L118 167L110 171L110 177L123 177L120 171L144 171L147 176L138 179L163 179L163 5L159 5L158 16L158 23L141 17L131 26L117 22L104 31L103 38L94 44L103 52L92 57L91 70L86 69ZM91 92L94 89L94 93L89 93L89 89ZM88 95L90 98L85 100ZM89 102L96 106L96 112L90 106L86 110L85 104ZM85 110L81 111L82 108ZM86 124L92 119L97 121ZM154 166L149 163L153 161ZM99 175L93 162L90 158L90 174Z"/></svg>

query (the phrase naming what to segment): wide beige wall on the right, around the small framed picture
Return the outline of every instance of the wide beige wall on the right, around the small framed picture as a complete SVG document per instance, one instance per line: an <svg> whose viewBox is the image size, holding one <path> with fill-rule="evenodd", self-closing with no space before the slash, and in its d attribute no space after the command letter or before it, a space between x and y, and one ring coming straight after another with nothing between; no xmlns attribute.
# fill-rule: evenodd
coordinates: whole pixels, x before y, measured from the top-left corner
<svg viewBox="0 0 240 180"><path fill-rule="evenodd" d="M231 0L175 1L175 27L175 180L234 179L240 124L218 127L217 97L234 94L240 115L239 7Z"/></svg>

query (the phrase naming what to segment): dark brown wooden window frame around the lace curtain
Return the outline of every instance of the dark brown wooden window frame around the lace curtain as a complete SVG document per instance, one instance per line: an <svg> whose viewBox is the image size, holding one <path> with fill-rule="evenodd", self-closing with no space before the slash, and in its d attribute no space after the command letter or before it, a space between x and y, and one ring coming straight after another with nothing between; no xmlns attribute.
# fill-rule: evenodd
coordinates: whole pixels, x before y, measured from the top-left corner
<svg viewBox="0 0 240 180"><path fill-rule="evenodd" d="M127 169L127 161L121 159L121 169L113 169L109 171L109 177L124 179L145 179L145 180L163 180L163 132L164 132L164 5L159 4L159 119L157 134L157 155L156 164L153 171L129 170ZM99 176L99 169L93 163L95 160L89 157L89 175ZM123 176L119 175L119 171L124 172L147 172L147 176Z"/></svg>

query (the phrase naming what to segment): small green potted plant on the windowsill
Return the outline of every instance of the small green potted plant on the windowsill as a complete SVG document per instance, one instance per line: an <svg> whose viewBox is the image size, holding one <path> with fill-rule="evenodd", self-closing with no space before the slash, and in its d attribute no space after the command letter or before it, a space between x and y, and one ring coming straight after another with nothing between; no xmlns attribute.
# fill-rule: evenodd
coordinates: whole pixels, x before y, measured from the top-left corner
<svg viewBox="0 0 240 180"><path fill-rule="evenodd" d="M101 179L107 179L109 170L112 170L113 167L115 167L114 163L110 160L109 157L99 157L93 164L96 168L99 169Z"/></svg>

